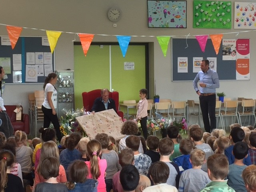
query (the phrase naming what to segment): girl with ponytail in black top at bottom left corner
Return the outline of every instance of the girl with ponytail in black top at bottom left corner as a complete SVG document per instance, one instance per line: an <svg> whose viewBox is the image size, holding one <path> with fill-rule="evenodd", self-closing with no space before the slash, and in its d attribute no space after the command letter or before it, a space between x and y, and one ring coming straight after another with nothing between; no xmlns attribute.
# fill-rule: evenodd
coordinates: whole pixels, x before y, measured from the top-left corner
<svg viewBox="0 0 256 192"><path fill-rule="evenodd" d="M24 192L21 179L10 173L14 166L14 154L0 150L0 192Z"/></svg>

